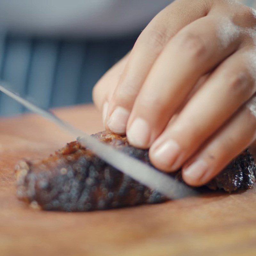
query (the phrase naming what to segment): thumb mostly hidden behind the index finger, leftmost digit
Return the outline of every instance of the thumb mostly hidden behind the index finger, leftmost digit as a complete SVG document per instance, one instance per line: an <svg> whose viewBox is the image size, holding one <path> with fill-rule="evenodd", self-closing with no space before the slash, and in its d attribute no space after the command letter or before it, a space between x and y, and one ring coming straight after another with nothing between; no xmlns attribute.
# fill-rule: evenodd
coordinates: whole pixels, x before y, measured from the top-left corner
<svg viewBox="0 0 256 256"><path fill-rule="evenodd" d="M124 71L124 66L127 63L129 54L130 52L110 68L93 87L92 99L96 107L102 111L103 124L105 124L107 116L108 102L113 95L122 72Z"/></svg>

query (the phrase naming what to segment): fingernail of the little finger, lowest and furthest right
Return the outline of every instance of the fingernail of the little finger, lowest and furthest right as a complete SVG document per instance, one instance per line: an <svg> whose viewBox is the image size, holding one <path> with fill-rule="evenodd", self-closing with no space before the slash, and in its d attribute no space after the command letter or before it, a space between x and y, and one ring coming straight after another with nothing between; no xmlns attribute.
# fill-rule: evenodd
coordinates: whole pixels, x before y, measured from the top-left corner
<svg viewBox="0 0 256 256"><path fill-rule="evenodd" d="M207 172L208 165L204 160L198 160L193 164L189 165L183 172L183 175L186 176L189 180L199 181Z"/></svg>

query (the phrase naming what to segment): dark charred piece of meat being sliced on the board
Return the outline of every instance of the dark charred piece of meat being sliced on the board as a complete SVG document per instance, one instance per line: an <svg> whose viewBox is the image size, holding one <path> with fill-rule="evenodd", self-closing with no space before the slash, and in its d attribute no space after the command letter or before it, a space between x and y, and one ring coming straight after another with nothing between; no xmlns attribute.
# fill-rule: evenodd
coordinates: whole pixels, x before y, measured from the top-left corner
<svg viewBox="0 0 256 256"><path fill-rule="evenodd" d="M150 164L148 150L130 146L125 136L107 131L92 136ZM77 141L43 160L22 160L15 172L18 197L44 210L91 211L167 200L105 163ZM181 179L180 171L170 175ZM245 151L207 186L228 192L247 189L252 187L255 175L252 156Z"/></svg>

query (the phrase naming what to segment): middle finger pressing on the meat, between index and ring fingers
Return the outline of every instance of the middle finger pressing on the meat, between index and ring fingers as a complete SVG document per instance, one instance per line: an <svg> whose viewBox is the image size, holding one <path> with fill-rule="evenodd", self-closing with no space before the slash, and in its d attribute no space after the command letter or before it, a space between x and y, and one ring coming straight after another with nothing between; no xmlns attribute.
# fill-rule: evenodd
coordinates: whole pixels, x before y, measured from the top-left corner
<svg viewBox="0 0 256 256"><path fill-rule="evenodd" d="M206 16L180 30L165 47L134 103L127 124L132 145L149 147L198 79L237 49L239 31L230 22L230 38L222 44L222 26L215 16Z"/></svg>

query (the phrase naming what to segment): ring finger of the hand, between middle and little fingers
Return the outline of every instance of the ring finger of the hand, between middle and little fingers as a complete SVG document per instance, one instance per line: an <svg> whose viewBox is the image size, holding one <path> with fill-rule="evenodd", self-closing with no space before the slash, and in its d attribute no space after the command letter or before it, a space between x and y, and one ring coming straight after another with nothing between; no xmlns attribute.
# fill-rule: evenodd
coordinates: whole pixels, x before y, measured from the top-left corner
<svg viewBox="0 0 256 256"><path fill-rule="evenodd" d="M180 168L253 95L256 91L255 71L251 70L256 68L253 56L255 53L241 49L213 72L150 148L157 167L165 171ZM176 150L168 149L171 144Z"/></svg>

